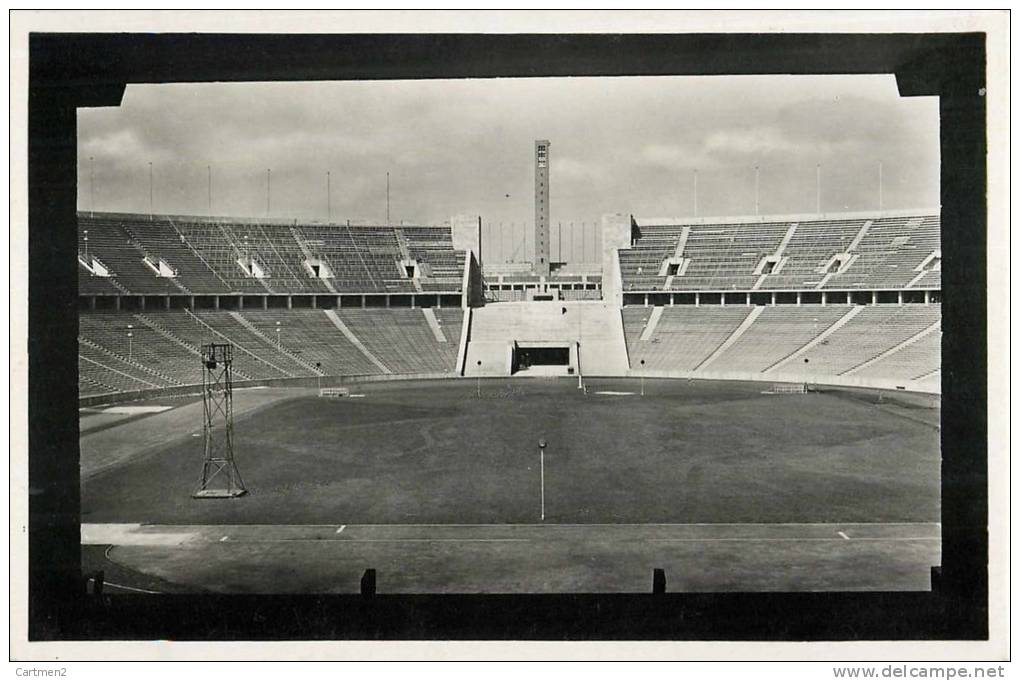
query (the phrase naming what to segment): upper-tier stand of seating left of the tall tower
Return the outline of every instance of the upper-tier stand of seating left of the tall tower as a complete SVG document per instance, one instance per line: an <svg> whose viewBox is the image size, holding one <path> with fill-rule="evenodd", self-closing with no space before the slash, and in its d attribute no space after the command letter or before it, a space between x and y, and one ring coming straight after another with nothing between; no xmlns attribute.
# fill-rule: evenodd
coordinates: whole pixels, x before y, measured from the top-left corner
<svg viewBox="0 0 1020 681"><path fill-rule="evenodd" d="M464 252L453 249L450 228L443 226L80 213L79 254L99 260L111 274L95 276L80 266L85 295L457 293L463 287ZM163 261L173 274L157 276L146 258L157 267ZM400 266L406 259L419 265L416 280ZM333 276L316 276L308 261L324 262ZM252 263L261 276L252 273Z"/></svg>

